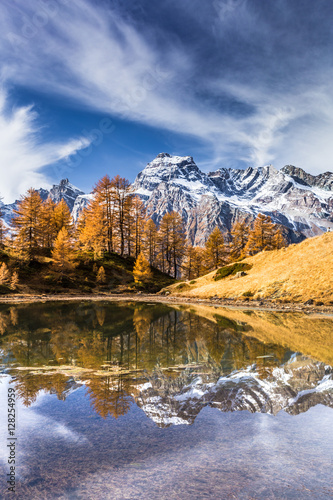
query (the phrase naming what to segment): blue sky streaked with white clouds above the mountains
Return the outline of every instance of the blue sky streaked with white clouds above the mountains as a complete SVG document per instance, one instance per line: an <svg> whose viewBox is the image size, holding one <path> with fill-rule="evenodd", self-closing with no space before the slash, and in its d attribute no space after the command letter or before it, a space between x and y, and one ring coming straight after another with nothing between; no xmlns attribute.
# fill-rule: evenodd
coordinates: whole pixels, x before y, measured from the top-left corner
<svg viewBox="0 0 333 500"><path fill-rule="evenodd" d="M331 0L2 0L0 193L160 152L332 171Z"/></svg>

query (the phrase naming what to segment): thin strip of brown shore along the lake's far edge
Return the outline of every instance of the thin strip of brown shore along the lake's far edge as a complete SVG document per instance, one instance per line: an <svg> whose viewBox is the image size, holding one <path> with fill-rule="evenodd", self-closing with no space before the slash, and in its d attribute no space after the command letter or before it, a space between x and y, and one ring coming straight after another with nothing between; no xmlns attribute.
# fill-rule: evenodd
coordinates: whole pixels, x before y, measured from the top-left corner
<svg viewBox="0 0 333 500"><path fill-rule="evenodd" d="M283 303L280 304L272 300L249 300L249 299L223 299L211 298L200 299L195 297L182 296L163 296L158 294L20 294L20 295L4 295L0 297L0 304L23 304L34 302L77 302L77 301L108 301L108 302L151 302L164 304L186 304L186 305L208 305L213 307L228 307L235 309L259 309L268 311L283 311L283 312L304 312L306 314L320 314L325 316L333 315L333 306L327 305L308 305L302 303Z"/></svg>

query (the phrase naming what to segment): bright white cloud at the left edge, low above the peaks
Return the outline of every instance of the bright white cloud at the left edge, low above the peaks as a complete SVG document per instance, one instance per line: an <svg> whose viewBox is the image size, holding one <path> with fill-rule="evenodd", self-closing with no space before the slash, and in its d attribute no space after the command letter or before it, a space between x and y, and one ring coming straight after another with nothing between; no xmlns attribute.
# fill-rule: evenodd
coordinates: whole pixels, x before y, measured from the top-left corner
<svg viewBox="0 0 333 500"><path fill-rule="evenodd" d="M7 102L0 90L0 194L10 203L30 187L49 187L43 168L87 147L89 141L41 143L41 126L33 106L8 110Z"/></svg>

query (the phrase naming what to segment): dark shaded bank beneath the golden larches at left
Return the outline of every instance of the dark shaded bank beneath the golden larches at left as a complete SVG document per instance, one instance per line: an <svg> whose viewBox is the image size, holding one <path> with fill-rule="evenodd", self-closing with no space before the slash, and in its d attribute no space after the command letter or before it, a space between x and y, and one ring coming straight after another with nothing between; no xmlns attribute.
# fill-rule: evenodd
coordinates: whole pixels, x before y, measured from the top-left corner
<svg viewBox="0 0 333 500"><path fill-rule="evenodd" d="M117 254L94 260L93 255L79 255L71 270L65 273L57 271L53 261L48 257L39 257L27 263L13 259L5 253L0 253L0 265L5 262L11 273L18 272L19 285L15 291L0 285L0 295L9 293L128 293L139 290L157 292L161 288L174 283L174 280L152 269L153 279L146 287L134 283L134 258L123 258ZM97 283L98 269L103 266L105 282Z"/></svg>

